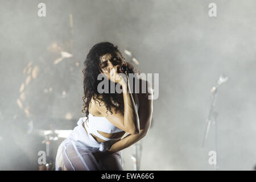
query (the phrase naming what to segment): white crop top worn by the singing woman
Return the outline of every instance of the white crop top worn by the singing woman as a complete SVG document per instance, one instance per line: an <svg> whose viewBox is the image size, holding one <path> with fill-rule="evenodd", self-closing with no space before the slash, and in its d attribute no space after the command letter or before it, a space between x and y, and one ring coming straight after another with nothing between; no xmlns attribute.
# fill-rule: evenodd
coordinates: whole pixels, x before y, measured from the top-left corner
<svg viewBox="0 0 256 182"><path fill-rule="evenodd" d="M138 111L139 109L139 100L138 96L135 93L134 102L136 105L136 109ZM105 141L114 141L119 140L120 138L106 138L103 137L98 131L102 131L104 133L118 133L120 131L123 131L119 129L118 127L114 126L111 122L108 121L105 117L96 117L89 113L88 120L86 121L86 117L82 118L82 120L85 122L84 127L87 130L88 134L94 134L98 138L101 138Z"/></svg>

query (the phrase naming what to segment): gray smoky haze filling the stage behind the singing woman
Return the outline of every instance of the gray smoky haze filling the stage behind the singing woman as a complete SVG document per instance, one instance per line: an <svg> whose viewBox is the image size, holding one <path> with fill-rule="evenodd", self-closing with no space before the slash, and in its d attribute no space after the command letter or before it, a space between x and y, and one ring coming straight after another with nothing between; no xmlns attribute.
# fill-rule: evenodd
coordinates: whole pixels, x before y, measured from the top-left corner
<svg viewBox="0 0 256 182"><path fill-rule="evenodd" d="M38 3L47 6L39 18ZM217 5L217 17L208 5ZM246 1L0 1L1 169L35 169L40 137L26 134L27 122L37 129L72 129L83 117L82 63L96 43L109 41L127 49L143 73L159 73L159 98L153 123L142 140L142 170L214 170L213 126L201 148L210 105L210 88L218 76L229 80L218 92L218 156L220 169L251 170L255 147L256 2ZM69 26L73 16L73 36ZM71 47L70 41L72 40ZM72 58L53 62L60 52ZM130 57L123 53L127 60ZM26 85L32 116L16 103L23 69L32 61L39 76ZM79 66L76 65L79 63ZM71 71L71 68L73 69ZM52 93L43 90L53 87ZM65 97L61 94L65 90ZM66 113L72 120L66 121ZM57 124L56 124L57 123ZM40 149L41 150L41 149ZM123 150L124 169L132 170L133 147ZM29 162L28 162L29 161Z"/></svg>

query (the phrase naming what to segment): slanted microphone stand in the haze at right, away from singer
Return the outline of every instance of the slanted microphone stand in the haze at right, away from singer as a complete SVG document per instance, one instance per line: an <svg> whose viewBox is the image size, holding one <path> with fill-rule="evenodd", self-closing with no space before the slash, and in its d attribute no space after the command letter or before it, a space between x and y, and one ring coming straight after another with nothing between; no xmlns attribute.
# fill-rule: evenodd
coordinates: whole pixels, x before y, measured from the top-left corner
<svg viewBox="0 0 256 182"><path fill-rule="evenodd" d="M216 164L214 164L214 168L217 170L218 169L218 151L217 151L217 117L218 117L218 112L216 110L214 110L214 106L215 106L215 102L216 102L216 97L217 97L217 91L218 88L214 88L213 93L212 93L212 103L210 105L210 109L209 109L209 114L207 117L207 125L205 128L205 133L204 133L204 140L203 140L203 144L202 147L205 146L205 142L207 140L208 137L208 133L209 133L209 129L210 129L210 123L212 122L212 124L214 125L214 148L215 148L215 152L216 152Z"/></svg>

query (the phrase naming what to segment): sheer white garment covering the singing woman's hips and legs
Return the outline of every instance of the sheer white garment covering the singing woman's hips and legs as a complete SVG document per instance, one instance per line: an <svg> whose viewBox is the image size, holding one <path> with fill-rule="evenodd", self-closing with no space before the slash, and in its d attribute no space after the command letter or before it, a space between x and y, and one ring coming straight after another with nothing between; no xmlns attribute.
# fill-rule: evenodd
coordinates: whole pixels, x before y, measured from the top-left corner
<svg viewBox="0 0 256 182"><path fill-rule="evenodd" d="M86 133L81 118L77 125L57 150L56 171L122 170L122 152L114 152L96 159L93 153L100 152L103 142L97 142L92 135Z"/></svg>

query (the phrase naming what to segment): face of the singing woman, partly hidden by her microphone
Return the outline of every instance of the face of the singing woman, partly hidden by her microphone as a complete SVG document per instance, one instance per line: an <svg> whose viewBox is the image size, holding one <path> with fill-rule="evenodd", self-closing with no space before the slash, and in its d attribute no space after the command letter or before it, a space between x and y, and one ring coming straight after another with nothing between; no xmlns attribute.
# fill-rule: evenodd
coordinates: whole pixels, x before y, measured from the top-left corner
<svg viewBox="0 0 256 182"><path fill-rule="evenodd" d="M100 69L103 73L109 75L110 70L116 65L122 65L125 63L125 58L119 52L115 52L112 56L110 53L107 53L100 57Z"/></svg>

